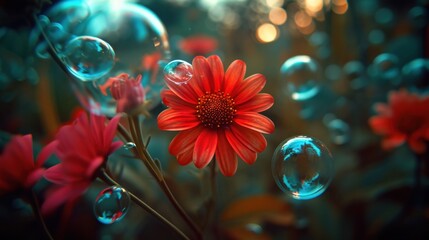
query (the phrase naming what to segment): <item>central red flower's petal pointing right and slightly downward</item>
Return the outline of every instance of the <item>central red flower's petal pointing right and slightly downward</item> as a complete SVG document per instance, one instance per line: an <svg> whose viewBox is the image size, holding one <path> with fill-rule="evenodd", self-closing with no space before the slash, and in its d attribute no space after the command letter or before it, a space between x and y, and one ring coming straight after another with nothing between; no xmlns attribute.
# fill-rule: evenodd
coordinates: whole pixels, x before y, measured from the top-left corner
<svg viewBox="0 0 429 240"><path fill-rule="evenodd" d="M243 127L260 133L272 133L274 131L274 123L271 119L259 113L237 113L234 121Z"/></svg>

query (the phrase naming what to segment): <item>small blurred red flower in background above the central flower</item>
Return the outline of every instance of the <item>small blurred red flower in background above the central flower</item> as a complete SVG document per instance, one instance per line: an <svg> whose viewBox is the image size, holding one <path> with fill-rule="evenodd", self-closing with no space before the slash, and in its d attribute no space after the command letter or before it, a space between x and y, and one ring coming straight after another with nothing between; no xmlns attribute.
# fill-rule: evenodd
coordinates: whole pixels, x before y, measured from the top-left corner
<svg viewBox="0 0 429 240"><path fill-rule="evenodd" d="M189 55L205 55L216 50L217 40L209 36L196 35L180 41L179 48Z"/></svg>

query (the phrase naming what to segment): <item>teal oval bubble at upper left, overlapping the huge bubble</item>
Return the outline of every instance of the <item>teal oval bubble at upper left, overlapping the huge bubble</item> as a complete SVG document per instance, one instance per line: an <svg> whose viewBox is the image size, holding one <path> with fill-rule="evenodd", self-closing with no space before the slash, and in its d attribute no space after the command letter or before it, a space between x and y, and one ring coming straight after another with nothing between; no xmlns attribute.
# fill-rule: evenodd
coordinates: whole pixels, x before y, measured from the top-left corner
<svg viewBox="0 0 429 240"><path fill-rule="evenodd" d="M68 42L64 50L65 65L82 81L106 75L115 63L113 48L100 38L79 36Z"/></svg>

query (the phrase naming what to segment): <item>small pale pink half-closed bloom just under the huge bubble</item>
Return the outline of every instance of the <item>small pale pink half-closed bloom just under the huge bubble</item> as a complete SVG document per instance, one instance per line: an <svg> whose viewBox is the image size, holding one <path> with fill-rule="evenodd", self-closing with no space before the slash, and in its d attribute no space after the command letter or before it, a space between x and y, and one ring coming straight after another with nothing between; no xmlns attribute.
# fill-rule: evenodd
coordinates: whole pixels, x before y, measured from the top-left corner
<svg viewBox="0 0 429 240"><path fill-rule="evenodd" d="M145 91L141 85L142 76L130 78L126 73L121 73L116 77L109 78L105 84L100 86L100 90L107 95L107 88L110 87L112 97L117 101L117 112L130 113L144 103Z"/></svg>

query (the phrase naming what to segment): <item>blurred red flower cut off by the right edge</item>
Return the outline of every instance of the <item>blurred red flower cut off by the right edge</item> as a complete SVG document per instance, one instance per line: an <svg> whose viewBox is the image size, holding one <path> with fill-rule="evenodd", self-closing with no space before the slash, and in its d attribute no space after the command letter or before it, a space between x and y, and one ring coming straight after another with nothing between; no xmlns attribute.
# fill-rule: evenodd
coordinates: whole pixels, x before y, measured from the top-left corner
<svg viewBox="0 0 429 240"><path fill-rule="evenodd" d="M407 142L416 153L426 151L429 140L429 97L406 90L392 92L389 104L376 105L378 116L369 120L373 131L385 136L382 146L391 149Z"/></svg>

